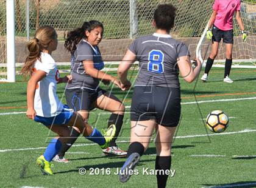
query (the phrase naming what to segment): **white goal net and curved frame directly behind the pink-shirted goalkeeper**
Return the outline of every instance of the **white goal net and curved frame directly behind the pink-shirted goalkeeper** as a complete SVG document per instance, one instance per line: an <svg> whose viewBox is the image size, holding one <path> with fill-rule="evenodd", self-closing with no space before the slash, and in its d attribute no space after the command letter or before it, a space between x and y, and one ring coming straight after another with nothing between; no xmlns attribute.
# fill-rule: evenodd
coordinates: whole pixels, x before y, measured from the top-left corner
<svg viewBox="0 0 256 188"><path fill-rule="evenodd" d="M212 13L212 10L210 11ZM256 68L256 1L241 1L240 14L243 20L244 29L247 32L247 41L243 42L241 38L241 30L235 19L233 18L233 65L238 68ZM204 59L204 63L211 51L211 42L206 39L206 31L208 25L205 25L204 32L197 45L197 55ZM216 67L224 67L226 59L225 45L221 41L219 45L218 56L215 60Z"/></svg>

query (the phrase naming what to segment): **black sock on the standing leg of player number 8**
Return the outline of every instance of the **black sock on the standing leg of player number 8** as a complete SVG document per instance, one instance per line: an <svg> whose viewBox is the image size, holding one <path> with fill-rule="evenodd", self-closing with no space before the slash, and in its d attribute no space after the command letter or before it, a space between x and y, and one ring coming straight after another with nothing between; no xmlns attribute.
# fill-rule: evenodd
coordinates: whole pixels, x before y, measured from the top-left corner
<svg viewBox="0 0 256 188"><path fill-rule="evenodd" d="M155 170L157 172L157 187L164 188L168 179L168 175L163 174L163 170L171 169L171 156L157 156L155 159ZM159 170L162 170L159 172Z"/></svg>

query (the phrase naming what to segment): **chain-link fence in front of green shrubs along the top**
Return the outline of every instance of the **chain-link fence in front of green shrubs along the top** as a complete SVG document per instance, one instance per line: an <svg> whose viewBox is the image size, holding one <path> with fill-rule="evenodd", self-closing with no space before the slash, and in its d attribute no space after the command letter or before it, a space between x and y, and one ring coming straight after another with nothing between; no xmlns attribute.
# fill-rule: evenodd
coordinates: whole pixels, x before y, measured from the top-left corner
<svg viewBox="0 0 256 188"><path fill-rule="evenodd" d="M27 1L29 20L26 19ZM5 1L0 2L4 7ZM26 36L27 29L33 35L40 25L52 25L64 32L80 27L84 21L96 19L104 24L105 39L135 38L152 32L155 7L163 2L171 2L178 8L176 23L179 24L174 29L177 35L201 35L213 0L16 0L16 36ZM29 27L26 27L28 21Z"/></svg>

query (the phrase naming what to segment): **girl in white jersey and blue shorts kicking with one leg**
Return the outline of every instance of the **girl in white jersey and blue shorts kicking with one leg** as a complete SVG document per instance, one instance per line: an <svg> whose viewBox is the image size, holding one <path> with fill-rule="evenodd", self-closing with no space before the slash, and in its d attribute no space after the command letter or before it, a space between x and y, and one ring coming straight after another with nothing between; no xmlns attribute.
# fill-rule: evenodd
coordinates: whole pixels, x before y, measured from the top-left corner
<svg viewBox="0 0 256 188"><path fill-rule="evenodd" d="M85 138L98 143L102 149L108 147L115 135L115 125L107 130L105 136L97 129L84 123L82 117L62 104L56 93L56 84L71 81L71 76L59 77L59 70L51 53L57 48L57 33L53 27L40 27L35 38L28 44L29 55L21 73L30 75L27 84L27 117L44 124L59 136L52 139L37 164L46 175L53 175L50 168L52 158L59 152L70 135L68 126L74 126Z"/></svg>

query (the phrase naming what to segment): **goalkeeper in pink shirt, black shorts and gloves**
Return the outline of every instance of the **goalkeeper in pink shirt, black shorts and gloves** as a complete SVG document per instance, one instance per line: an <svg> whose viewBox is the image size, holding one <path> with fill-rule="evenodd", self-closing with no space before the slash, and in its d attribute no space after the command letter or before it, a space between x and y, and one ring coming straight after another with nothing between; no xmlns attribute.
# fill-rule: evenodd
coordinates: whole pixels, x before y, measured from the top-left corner
<svg viewBox="0 0 256 188"><path fill-rule="evenodd" d="M208 24L207 39L212 39L212 52L205 66L205 72L202 81L207 81L208 73L212 68L213 61L218 54L219 42L223 39L226 45L226 64L224 73L224 82L232 83L229 78L232 65L232 47L233 47L233 15L236 13L236 21L241 29L243 41L246 41L247 35L244 31L244 24L240 16L240 0L215 0L213 4L213 13ZM213 27L212 27L213 26ZM212 29L211 29L212 28Z"/></svg>

